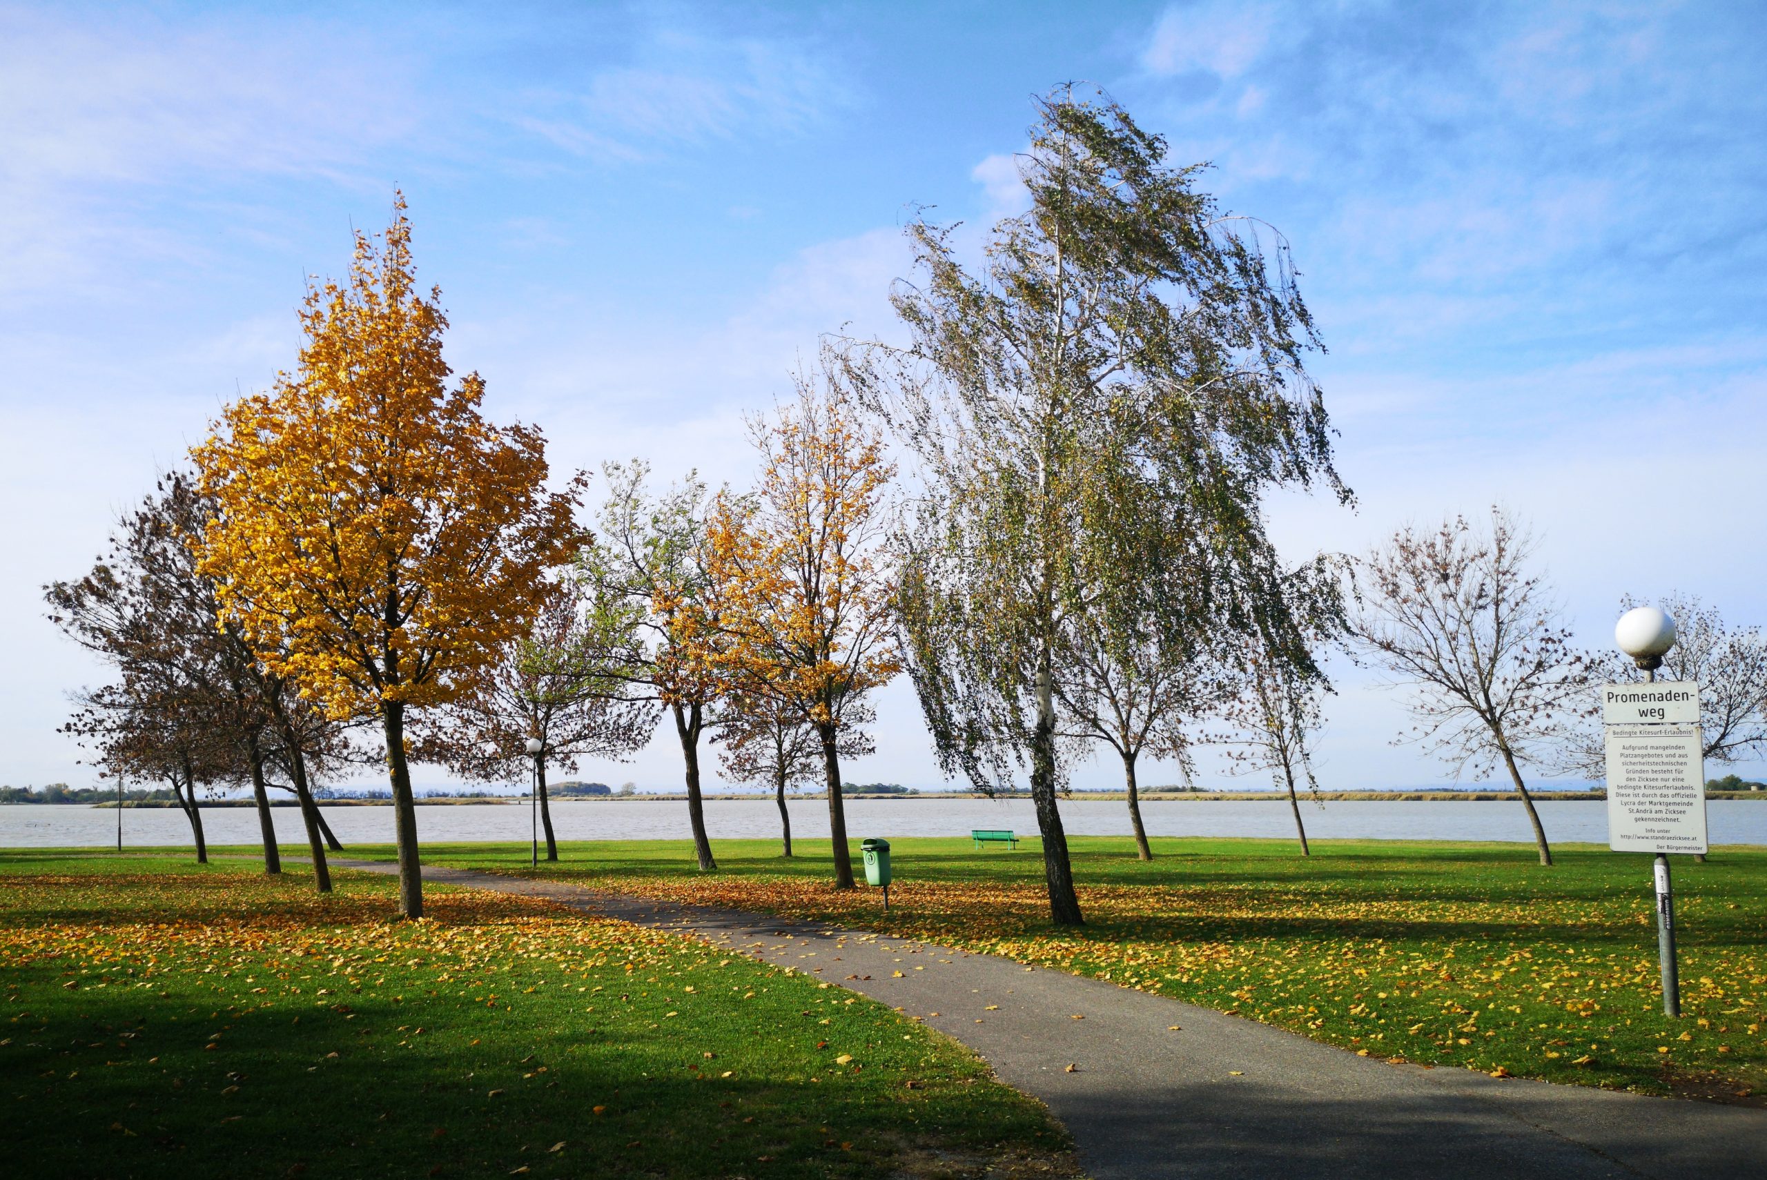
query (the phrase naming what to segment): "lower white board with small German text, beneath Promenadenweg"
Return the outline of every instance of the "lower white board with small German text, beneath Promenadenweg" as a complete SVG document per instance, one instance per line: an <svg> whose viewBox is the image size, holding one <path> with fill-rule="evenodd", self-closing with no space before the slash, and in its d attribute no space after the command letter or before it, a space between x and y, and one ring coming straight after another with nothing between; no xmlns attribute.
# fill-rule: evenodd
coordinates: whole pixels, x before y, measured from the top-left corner
<svg viewBox="0 0 1767 1180"><path fill-rule="evenodd" d="M1705 851L1700 726L1608 726L1608 848Z"/></svg>

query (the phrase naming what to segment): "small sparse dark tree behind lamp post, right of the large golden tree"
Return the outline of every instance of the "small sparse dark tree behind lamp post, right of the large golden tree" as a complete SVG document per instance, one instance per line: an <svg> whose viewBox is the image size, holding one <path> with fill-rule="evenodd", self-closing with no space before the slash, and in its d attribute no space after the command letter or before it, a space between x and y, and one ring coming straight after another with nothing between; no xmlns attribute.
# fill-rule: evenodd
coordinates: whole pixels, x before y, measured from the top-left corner
<svg viewBox="0 0 1767 1180"><path fill-rule="evenodd" d="M574 772L580 758L624 758L656 731L656 708L627 700L624 682L610 673L636 654L618 650L626 636L604 636L588 611L588 597L571 578L551 597L525 636L505 641L498 659L465 696L431 710L413 747L421 761L445 763L479 783L521 781L535 772L546 859L558 859L546 768ZM541 753L528 754L527 740Z"/></svg>

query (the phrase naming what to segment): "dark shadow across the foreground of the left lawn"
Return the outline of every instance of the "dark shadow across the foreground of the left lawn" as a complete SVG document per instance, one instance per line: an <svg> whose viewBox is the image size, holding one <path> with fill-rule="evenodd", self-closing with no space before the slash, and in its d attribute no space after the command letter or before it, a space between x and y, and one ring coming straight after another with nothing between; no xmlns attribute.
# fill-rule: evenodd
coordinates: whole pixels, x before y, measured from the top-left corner
<svg viewBox="0 0 1767 1180"><path fill-rule="evenodd" d="M0 1079L37 1116L0 1123L0 1145L37 1176L795 1178L887 1169L901 1141L1039 1136L1035 1118L970 1086L906 1109L834 1072L723 1079L696 1044L611 1039L588 1021L512 1035L495 1014L459 1012L415 1037L433 1010L352 1003L87 993L46 1026L14 1026Z"/></svg>

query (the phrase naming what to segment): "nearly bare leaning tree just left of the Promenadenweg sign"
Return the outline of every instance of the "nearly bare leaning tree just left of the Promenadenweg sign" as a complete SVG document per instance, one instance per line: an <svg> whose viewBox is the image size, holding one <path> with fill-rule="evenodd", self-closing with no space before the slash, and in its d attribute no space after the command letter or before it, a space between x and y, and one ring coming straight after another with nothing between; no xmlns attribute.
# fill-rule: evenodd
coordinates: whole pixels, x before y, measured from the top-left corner
<svg viewBox="0 0 1767 1180"><path fill-rule="evenodd" d="M1488 532L1463 516L1433 532L1405 526L1359 564L1352 634L1364 659L1412 689L1415 740L1456 774L1504 767L1550 866L1521 767L1551 756L1589 678L1532 556L1532 535L1500 507Z"/></svg>

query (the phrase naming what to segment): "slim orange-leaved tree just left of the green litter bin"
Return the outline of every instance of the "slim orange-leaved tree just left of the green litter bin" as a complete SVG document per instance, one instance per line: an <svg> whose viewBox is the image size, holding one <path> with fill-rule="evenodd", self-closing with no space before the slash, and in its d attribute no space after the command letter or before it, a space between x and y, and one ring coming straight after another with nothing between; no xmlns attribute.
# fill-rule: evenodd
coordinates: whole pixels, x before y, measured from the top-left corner
<svg viewBox="0 0 1767 1180"><path fill-rule="evenodd" d="M753 436L760 486L753 498L719 496L707 528L721 643L710 659L737 692L777 701L816 731L834 885L852 889L843 733L864 696L901 669L882 505L894 468L827 371L799 376L795 405L770 426L756 422Z"/></svg>

